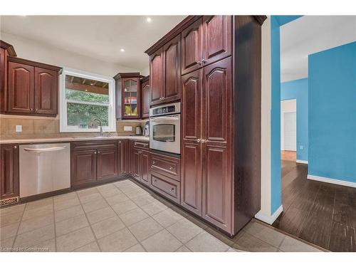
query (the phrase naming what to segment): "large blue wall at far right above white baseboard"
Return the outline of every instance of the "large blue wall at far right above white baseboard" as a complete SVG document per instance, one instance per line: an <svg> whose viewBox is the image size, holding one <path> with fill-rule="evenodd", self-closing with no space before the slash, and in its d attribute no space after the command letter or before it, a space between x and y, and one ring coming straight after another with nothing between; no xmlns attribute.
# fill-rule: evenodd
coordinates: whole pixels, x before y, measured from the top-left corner
<svg viewBox="0 0 356 267"><path fill-rule="evenodd" d="M356 182L356 42L308 61L308 174Z"/></svg>

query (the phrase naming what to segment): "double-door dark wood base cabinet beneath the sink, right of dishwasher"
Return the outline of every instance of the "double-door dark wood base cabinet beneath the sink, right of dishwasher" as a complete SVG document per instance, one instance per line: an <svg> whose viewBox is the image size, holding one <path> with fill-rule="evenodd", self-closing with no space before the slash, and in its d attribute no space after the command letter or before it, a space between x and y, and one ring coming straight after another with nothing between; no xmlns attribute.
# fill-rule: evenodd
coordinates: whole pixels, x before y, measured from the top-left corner
<svg viewBox="0 0 356 267"><path fill-rule="evenodd" d="M71 187L85 187L117 179L118 147L117 140L71 142Z"/></svg>

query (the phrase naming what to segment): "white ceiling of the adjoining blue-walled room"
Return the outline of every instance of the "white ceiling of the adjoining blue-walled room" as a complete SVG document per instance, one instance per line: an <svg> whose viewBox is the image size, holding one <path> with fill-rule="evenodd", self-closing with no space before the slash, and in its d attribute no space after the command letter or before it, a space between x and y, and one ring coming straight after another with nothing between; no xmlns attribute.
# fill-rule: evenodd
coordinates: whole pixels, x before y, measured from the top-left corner
<svg viewBox="0 0 356 267"><path fill-rule="evenodd" d="M303 16L281 26L281 82L308 77L308 55L356 41L356 16Z"/></svg>

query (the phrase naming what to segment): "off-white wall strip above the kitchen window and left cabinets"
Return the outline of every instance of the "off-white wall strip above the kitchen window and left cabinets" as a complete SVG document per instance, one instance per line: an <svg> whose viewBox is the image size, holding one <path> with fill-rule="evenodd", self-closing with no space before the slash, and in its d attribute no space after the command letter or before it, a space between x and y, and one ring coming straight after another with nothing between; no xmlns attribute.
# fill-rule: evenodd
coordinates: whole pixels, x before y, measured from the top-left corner
<svg viewBox="0 0 356 267"><path fill-rule="evenodd" d="M39 61L41 63L48 63L60 67L85 70L90 73L107 75L110 77L113 77L120 72L138 71L115 63L98 61L95 58L90 58L90 55L81 56L54 46L48 46L46 43L40 43L9 33L0 33L0 39L14 46L19 58L26 58L31 61Z"/></svg>

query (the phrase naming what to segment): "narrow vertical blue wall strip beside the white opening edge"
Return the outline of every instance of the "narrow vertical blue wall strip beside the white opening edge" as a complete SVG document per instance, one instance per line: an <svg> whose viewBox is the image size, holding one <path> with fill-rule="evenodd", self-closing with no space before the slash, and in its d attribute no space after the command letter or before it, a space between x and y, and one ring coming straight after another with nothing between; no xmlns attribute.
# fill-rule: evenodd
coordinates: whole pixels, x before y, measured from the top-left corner
<svg viewBox="0 0 356 267"><path fill-rule="evenodd" d="M281 192L281 52L276 16L271 16L271 214L282 204Z"/></svg>

